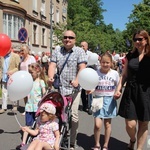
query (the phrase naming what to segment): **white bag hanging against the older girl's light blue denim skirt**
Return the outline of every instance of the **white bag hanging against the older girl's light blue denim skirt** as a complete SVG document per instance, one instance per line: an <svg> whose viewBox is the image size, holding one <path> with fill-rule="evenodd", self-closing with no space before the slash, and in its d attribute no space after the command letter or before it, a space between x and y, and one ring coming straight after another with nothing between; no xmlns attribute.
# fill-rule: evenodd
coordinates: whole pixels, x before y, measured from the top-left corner
<svg viewBox="0 0 150 150"><path fill-rule="evenodd" d="M96 112L103 107L103 97L93 98L91 104L92 112Z"/></svg>

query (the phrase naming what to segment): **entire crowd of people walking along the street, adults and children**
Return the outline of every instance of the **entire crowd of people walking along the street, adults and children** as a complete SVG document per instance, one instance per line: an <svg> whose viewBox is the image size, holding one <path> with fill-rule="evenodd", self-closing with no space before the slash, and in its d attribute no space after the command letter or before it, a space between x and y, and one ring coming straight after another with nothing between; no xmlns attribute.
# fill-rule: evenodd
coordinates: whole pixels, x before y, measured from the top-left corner
<svg viewBox="0 0 150 150"><path fill-rule="evenodd" d="M37 136L33 139L28 150L36 149L59 149L58 139L60 136L56 109L51 104L45 104L40 107L40 120L36 129L31 130L35 121L35 113L38 109L38 102L46 93L47 83L52 87L54 75L60 74L60 87L58 92L65 98L74 94L72 103L71 119L71 140L70 150L76 147L76 137L79 124L78 109L80 99L82 99L83 111L94 117L94 150L108 150L109 139L111 136L111 120L117 115L125 118L126 132L129 135L129 144L127 149L143 150L147 135L148 123L150 120L150 37L147 31L139 30L133 34L133 50L126 53L116 54L106 51L99 56L97 64L88 65L88 43L81 41L81 46L75 45L76 34L72 30L67 30L63 34L63 46L57 47L49 60L45 52L42 52L41 60L29 54L29 48L23 45L20 50L20 56L10 51L6 56L0 57L0 77L2 80L2 109L0 113L7 110L7 82L9 77L18 70L26 70L33 77L33 88L29 95L24 98L25 101L25 123L22 127L23 139L20 145L26 143L27 135ZM64 65L65 62L65 66ZM81 89L78 82L79 72L86 67L93 68L98 76L99 83L94 90L86 91ZM46 81L46 75L48 81ZM123 87L126 83L125 89ZM121 98L119 110L117 110L116 100ZM91 105L93 98L101 98L102 108L92 113ZM13 110L16 110L16 103L13 104ZM105 138L103 145L100 145L100 133L102 123L104 122ZM48 131L47 128L50 128ZM49 135L48 135L49 133ZM41 141L41 142L40 142Z"/></svg>

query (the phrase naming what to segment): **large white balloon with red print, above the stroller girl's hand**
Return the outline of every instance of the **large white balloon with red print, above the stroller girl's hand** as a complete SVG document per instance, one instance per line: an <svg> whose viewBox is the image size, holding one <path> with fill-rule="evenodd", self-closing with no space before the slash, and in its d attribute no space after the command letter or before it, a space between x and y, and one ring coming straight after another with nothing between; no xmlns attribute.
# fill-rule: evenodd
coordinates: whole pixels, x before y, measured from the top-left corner
<svg viewBox="0 0 150 150"><path fill-rule="evenodd" d="M17 71L7 82L9 99L17 101L26 97L33 86L33 78L28 71Z"/></svg>

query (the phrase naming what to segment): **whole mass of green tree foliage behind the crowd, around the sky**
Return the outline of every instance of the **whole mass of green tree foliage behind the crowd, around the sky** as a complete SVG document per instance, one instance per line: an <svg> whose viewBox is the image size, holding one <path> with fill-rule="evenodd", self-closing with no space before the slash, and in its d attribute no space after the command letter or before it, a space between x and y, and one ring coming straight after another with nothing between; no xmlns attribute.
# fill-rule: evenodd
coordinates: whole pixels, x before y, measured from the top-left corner
<svg viewBox="0 0 150 150"><path fill-rule="evenodd" d="M105 2L105 1L104 1ZM89 48L97 53L106 50L125 52L132 48L133 31L143 28L150 32L150 1L143 0L135 5L126 24L127 30L114 29L112 24L104 23L102 0L69 0L67 25L55 26L54 34L59 39L55 43L61 45L62 31L69 29L76 33L76 45L87 41ZM100 50L96 47L100 46Z"/></svg>

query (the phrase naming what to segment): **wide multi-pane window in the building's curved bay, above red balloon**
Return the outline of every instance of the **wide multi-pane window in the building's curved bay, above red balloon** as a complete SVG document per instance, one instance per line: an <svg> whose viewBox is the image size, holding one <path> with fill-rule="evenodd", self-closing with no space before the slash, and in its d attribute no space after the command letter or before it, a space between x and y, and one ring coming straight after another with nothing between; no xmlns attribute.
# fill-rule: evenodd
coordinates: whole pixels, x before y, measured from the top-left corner
<svg viewBox="0 0 150 150"><path fill-rule="evenodd" d="M11 39L18 40L18 31L25 26L25 21L19 16L3 14L3 32Z"/></svg>

